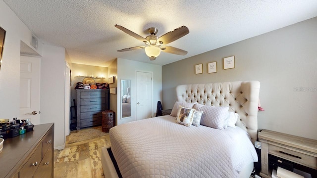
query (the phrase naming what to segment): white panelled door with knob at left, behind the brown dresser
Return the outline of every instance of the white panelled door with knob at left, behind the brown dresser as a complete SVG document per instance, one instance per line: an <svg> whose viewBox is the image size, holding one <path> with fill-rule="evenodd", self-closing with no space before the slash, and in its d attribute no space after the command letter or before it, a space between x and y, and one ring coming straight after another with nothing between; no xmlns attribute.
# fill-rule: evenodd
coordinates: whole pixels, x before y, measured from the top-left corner
<svg viewBox="0 0 317 178"><path fill-rule="evenodd" d="M40 124L40 72L39 57L20 57L20 116Z"/></svg>

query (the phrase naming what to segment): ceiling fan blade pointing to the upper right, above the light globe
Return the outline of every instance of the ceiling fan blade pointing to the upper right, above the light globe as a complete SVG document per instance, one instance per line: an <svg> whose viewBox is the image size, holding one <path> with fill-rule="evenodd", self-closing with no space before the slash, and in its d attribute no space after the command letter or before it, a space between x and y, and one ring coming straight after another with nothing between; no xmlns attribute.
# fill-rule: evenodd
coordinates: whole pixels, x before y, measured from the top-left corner
<svg viewBox="0 0 317 178"><path fill-rule="evenodd" d="M167 32L166 34L160 36L158 41L160 45L167 45L187 34L189 34L188 28L186 26L181 26L174 31Z"/></svg>

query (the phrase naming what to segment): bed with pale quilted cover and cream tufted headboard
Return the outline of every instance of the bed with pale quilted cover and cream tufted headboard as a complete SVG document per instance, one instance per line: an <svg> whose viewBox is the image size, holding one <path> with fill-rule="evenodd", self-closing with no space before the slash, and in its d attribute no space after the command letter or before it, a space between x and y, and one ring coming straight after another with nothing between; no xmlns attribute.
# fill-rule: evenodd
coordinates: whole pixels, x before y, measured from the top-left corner
<svg viewBox="0 0 317 178"><path fill-rule="evenodd" d="M258 161L253 142L259 90L258 81L177 86L179 103L237 113L235 128L186 127L176 122L174 108L168 116L116 126L110 129L111 148L102 150L105 177L249 178Z"/></svg>

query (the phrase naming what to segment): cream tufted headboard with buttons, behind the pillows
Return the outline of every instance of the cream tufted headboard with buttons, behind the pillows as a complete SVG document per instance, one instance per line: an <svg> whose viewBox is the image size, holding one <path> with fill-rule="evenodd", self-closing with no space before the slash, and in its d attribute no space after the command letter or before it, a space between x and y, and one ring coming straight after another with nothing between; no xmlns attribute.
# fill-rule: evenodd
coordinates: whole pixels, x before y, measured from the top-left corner
<svg viewBox="0 0 317 178"><path fill-rule="evenodd" d="M176 87L181 102L198 102L211 106L229 106L229 111L239 114L236 126L250 134L252 142L258 137L259 81L190 84Z"/></svg>

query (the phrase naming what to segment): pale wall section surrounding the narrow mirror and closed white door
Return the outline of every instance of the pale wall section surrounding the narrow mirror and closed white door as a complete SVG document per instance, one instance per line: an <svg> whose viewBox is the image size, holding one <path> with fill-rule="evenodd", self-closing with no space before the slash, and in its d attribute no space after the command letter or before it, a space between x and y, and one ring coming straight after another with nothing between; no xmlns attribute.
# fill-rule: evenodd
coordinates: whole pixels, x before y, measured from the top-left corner
<svg viewBox="0 0 317 178"><path fill-rule="evenodd" d="M159 60L159 59L157 59ZM118 85L117 85L117 115L116 120L118 124L130 122L135 120L135 72L147 71L153 72L153 103L152 116L155 117L157 111L158 101L161 101L162 91L162 67L159 65L142 63L127 59L118 58ZM120 79L131 80L131 117L121 120L121 98L120 98Z"/></svg>

